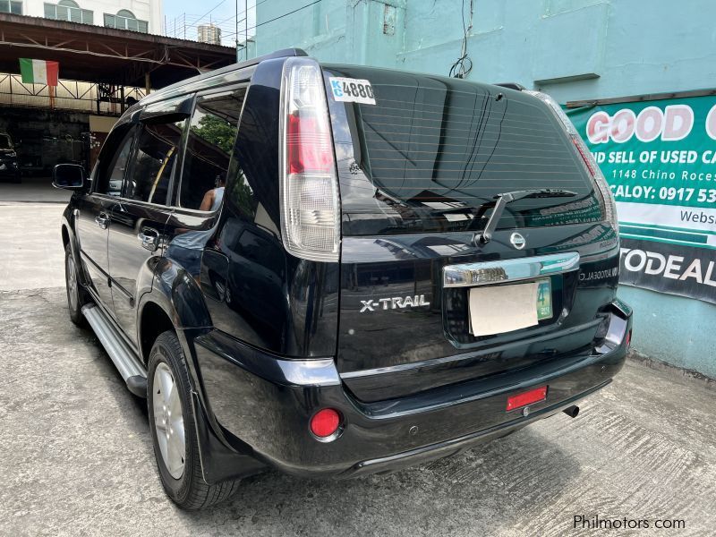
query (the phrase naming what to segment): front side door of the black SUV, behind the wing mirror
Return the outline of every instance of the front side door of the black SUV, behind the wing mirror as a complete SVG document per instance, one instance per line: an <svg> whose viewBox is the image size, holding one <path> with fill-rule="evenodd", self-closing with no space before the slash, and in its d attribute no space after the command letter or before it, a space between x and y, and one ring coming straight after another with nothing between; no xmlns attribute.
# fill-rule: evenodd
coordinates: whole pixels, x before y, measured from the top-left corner
<svg viewBox="0 0 716 537"><path fill-rule="evenodd" d="M129 162L135 127L122 124L107 137L93 171L91 192L82 196L78 208L78 236L84 266L92 288L105 309L114 314L109 282L107 235L111 215L122 193L124 172Z"/></svg>

